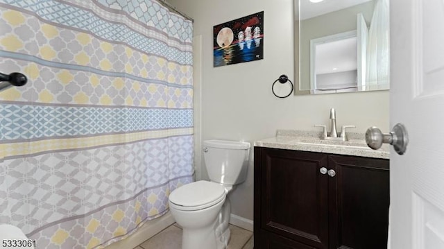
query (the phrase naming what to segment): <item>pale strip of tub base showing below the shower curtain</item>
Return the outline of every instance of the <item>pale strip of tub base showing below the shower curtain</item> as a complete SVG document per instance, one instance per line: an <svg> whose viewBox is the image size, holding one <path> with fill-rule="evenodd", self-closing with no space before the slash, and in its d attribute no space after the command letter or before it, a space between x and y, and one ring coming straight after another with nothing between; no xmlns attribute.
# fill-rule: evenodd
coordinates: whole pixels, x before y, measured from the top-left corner
<svg viewBox="0 0 444 249"><path fill-rule="evenodd" d="M139 246L141 243L150 239L155 234L158 234L165 228L173 225L174 218L171 215L171 212L160 216L159 218L155 218L154 220L147 221L142 227L137 230L134 234L131 234L130 237L123 239L121 241L117 241L116 243L112 243L110 246L107 246L105 249L122 249L122 248L135 248Z"/></svg>

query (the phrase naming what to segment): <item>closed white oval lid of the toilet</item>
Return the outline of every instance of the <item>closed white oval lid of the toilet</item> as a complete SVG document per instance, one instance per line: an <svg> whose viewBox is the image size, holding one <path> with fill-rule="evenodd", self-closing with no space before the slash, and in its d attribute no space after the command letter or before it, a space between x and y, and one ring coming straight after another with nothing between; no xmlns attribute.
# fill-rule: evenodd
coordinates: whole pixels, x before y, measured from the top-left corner
<svg viewBox="0 0 444 249"><path fill-rule="evenodd" d="M176 205L195 207L212 203L223 196L225 188L221 184L201 180L174 189L169 195L169 200Z"/></svg>

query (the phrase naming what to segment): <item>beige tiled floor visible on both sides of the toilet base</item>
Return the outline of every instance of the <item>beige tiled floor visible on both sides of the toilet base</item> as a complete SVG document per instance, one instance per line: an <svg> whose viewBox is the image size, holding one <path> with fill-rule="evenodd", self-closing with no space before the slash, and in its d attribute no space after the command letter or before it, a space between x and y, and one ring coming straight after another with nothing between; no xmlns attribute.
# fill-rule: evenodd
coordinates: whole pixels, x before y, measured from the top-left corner
<svg viewBox="0 0 444 249"><path fill-rule="evenodd" d="M227 249L253 249L253 232L235 225L230 225L230 230L231 238ZM134 249L180 249L180 246L182 228L175 223Z"/></svg>

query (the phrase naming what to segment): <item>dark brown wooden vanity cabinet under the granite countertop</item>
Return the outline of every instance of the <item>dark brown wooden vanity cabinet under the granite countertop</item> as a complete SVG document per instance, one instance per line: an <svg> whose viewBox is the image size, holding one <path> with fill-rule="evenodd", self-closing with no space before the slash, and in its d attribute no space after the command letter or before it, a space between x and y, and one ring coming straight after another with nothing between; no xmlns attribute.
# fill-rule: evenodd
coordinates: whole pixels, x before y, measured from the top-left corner
<svg viewBox="0 0 444 249"><path fill-rule="evenodd" d="M255 249L386 248L388 170L388 160L255 147Z"/></svg>

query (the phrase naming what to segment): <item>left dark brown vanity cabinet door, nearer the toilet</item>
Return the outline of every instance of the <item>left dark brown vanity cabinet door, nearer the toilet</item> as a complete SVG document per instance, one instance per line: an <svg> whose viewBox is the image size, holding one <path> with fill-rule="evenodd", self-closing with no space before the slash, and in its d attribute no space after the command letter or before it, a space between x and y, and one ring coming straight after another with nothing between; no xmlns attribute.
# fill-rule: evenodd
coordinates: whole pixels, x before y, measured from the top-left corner
<svg viewBox="0 0 444 249"><path fill-rule="evenodd" d="M261 228L327 249L327 155L263 148L261 157Z"/></svg>

